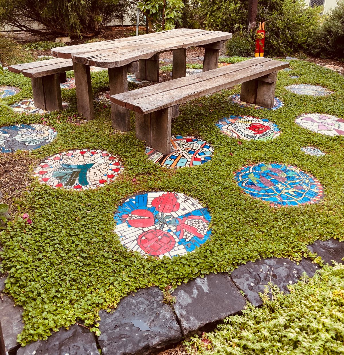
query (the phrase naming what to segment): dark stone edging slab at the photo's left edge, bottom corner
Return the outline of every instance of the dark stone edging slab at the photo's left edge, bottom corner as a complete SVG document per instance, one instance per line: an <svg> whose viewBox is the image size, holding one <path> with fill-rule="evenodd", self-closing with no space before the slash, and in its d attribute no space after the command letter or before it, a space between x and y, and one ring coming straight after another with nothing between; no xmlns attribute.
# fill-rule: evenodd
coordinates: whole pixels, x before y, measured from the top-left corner
<svg viewBox="0 0 344 355"><path fill-rule="evenodd" d="M13 299L0 292L0 346L2 345L2 353L15 354L16 349L20 346L17 343L17 335L22 332L23 326L22 308L14 307Z"/></svg>

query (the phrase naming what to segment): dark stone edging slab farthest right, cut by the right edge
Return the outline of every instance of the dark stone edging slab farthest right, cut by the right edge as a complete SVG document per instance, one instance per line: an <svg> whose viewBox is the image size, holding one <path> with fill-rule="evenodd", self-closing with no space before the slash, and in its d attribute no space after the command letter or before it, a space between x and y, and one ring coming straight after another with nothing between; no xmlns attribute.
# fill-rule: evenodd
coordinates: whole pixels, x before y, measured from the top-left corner
<svg viewBox="0 0 344 355"><path fill-rule="evenodd" d="M317 253L321 256L323 261L329 264L332 264L332 260L344 264L344 261L342 260L342 258L344 258L344 241L340 242L333 238L324 241L317 240L309 245L308 249L312 253Z"/></svg>

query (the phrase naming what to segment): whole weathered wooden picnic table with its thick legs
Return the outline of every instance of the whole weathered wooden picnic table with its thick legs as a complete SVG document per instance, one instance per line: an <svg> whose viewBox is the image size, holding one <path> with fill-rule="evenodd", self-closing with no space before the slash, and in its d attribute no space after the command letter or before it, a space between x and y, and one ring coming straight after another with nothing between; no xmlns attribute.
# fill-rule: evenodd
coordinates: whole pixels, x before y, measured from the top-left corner
<svg viewBox="0 0 344 355"><path fill-rule="evenodd" d="M231 33L178 28L169 31L143 34L137 37L119 38L89 44L58 47L51 54L58 58L72 59L79 115L94 118L90 66L107 68L110 95L128 91L127 70L135 67L136 77L159 82L159 54L173 50L172 79L185 76L186 49L204 47L203 71L218 66L219 50ZM131 69L132 70L132 69ZM111 104L112 125L121 131L130 130L129 110Z"/></svg>

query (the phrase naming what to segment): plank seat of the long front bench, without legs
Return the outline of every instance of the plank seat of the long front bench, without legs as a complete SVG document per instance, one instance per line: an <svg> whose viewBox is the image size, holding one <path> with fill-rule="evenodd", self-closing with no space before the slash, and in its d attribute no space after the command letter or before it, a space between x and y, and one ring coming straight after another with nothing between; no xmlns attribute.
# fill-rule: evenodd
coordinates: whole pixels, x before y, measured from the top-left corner
<svg viewBox="0 0 344 355"><path fill-rule="evenodd" d="M288 62L257 57L201 74L112 95L110 100L127 109L147 114L266 76L288 66Z"/></svg>

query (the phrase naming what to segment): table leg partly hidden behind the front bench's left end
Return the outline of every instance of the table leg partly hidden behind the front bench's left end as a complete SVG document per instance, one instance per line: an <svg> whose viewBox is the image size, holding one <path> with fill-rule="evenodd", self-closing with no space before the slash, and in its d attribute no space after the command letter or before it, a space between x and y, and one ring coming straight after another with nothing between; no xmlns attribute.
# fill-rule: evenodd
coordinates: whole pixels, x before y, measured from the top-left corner
<svg viewBox="0 0 344 355"><path fill-rule="evenodd" d="M108 68L110 95L120 94L128 91L127 66ZM129 110L111 103L112 126L123 132L130 131Z"/></svg>

